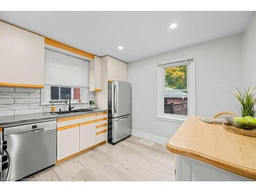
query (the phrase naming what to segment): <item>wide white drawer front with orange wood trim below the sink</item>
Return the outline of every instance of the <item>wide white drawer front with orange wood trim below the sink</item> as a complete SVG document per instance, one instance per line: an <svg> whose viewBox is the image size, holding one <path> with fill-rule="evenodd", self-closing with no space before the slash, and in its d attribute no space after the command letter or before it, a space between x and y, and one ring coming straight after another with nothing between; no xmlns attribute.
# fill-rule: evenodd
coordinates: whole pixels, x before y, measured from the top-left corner
<svg viewBox="0 0 256 192"><path fill-rule="evenodd" d="M68 118L61 118L61 119L57 119L57 127L92 121L92 120L95 120L95 118L96 118L95 113L87 114L87 115L79 115L79 116L74 116L74 117L68 117Z"/></svg>

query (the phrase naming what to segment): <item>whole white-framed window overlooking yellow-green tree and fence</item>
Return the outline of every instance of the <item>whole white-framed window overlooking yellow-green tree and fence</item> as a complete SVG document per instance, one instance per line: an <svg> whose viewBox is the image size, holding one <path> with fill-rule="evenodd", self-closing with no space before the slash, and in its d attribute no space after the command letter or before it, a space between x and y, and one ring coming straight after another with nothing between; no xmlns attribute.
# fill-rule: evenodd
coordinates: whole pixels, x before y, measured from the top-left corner
<svg viewBox="0 0 256 192"><path fill-rule="evenodd" d="M160 119L195 115L195 57L159 63L157 109Z"/></svg>

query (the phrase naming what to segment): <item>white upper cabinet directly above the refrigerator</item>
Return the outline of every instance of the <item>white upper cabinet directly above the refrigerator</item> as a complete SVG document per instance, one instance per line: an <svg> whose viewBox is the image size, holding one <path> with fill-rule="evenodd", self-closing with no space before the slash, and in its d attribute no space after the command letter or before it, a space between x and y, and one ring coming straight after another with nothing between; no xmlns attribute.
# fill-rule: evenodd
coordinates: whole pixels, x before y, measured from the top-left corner
<svg viewBox="0 0 256 192"><path fill-rule="evenodd" d="M108 79L126 81L126 66L125 62L117 60L113 57L108 57Z"/></svg>

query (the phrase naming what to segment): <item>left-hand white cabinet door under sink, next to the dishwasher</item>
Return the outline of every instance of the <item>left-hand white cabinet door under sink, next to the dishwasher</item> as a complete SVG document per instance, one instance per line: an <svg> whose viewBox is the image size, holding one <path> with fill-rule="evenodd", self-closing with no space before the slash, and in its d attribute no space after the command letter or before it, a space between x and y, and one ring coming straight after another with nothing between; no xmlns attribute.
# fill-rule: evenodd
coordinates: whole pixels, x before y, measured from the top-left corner
<svg viewBox="0 0 256 192"><path fill-rule="evenodd" d="M79 152L79 125L57 132L57 161Z"/></svg>

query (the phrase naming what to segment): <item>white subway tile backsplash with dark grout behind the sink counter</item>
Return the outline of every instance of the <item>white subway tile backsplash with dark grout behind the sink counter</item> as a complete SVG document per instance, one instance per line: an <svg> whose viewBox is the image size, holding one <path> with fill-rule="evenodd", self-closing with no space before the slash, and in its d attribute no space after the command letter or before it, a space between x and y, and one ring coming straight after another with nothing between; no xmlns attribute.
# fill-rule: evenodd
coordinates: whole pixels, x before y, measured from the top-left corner
<svg viewBox="0 0 256 192"><path fill-rule="evenodd" d="M40 89L0 87L0 116L45 113L51 105L40 104ZM89 92L89 100L94 100L94 92ZM72 103L71 103L72 104ZM72 104L74 109L89 108L89 103ZM69 104L55 105L55 111L68 110Z"/></svg>

